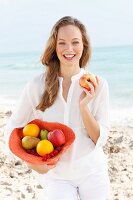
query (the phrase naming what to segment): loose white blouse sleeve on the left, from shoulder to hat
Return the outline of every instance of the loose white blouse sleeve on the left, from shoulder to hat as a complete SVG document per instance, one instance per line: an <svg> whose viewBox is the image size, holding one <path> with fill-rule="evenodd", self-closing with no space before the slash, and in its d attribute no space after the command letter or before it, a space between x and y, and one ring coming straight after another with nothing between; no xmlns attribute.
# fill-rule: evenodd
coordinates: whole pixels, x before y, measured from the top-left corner
<svg viewBox="0 0 133 200"><path fill-rule="evenodd" d="M34 77L23 89L13 114L4 128L6 142L9 141L14 128L24 127L35 118L42 119L42 112L36 110L36 106L39 104L44 91L44 76L45 74L42 73Z"/></svg>

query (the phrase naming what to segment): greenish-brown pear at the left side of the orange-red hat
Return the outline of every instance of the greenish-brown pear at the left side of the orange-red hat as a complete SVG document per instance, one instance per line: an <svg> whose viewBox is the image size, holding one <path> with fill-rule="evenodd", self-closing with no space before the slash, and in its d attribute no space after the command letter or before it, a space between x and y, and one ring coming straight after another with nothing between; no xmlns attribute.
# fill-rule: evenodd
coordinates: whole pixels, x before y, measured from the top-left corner
<svg viewBox="0 0 133 200"><path fill-rule="evenodd" d="M39 141L39 138L33 136L25 136L22 139L22 146L24 149L32 149L37 146Z"/></svg>

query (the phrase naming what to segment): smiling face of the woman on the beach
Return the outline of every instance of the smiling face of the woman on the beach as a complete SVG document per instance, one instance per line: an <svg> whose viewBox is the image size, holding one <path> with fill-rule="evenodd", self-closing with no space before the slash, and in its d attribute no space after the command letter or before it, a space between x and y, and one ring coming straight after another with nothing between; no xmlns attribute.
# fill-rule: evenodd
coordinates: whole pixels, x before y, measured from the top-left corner
<svg viewBox="0 0 133 200"><path fill-rule="evenodd" d="M83 52L82 35L78 27L67 25L59 28L56 53L60 66L77 65Z"/></svg>

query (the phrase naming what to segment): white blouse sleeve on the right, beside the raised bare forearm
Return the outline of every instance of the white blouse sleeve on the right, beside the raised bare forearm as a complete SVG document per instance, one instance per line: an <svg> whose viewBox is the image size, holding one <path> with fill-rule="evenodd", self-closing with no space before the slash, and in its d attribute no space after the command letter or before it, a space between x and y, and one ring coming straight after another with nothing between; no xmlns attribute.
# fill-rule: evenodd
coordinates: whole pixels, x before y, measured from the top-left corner
<svg viewBox="0 0 133 200"><path fill-rule="evenodd" d="M105 145L109 133L109 89L106 80L103 81L98 95L95 119L100 126L100 136L95 148Z"/></svg>

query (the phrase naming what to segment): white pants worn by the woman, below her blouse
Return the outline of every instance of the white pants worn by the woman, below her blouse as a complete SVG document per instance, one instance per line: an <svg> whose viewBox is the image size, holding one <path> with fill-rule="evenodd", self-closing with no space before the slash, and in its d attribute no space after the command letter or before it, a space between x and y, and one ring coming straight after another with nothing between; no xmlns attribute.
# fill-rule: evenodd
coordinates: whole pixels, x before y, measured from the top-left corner
<svg viewBox="0 0 133 200"><path fill-rule="evenodd" d="M109 195L109 177L105 172L73 181L52 179L45 175L41 185L47 200L106 200Z"/></svg>

